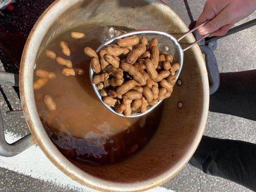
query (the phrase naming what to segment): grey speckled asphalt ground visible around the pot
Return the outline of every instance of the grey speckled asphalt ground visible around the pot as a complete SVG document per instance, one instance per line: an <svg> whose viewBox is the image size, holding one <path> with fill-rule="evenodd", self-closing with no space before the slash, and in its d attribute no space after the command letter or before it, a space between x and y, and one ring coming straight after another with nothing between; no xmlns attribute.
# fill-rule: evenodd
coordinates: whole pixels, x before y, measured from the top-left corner
<svg viewBox="0 0 256 192"><path fill-rule="evenodd" d="M186 24L190 24L182 0L165 0ZM193 17L199 16L205 0L190 0ZM256 13L240 23L256 18ZM215 51L220 72L236 72L256 69L256 27L246 29L218 41ZM20 103L10 86L2 86L12 108L19 109ZM7 105L0 96L1 111L7 111ZM20 116L6 117L3 113L6 132L23 136L28 132L24 119ZM256 143L256 123L231 115L209 113L205 134L211 137L236 139ZM213 177L187 165L175 178L163 184L163 187L175 192L249 192L250 190L228 180ZM56 183L44 182L24 176L5 168L0 168L1 192L73 192L74 190L56 186Z"/></svg>

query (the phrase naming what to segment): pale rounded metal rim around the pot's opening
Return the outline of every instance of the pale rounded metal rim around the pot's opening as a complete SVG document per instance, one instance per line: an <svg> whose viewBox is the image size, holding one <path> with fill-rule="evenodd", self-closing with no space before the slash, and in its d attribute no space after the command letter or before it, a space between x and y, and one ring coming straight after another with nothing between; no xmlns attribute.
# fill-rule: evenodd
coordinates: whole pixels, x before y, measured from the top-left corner
<svg viewBox="0 0 256 192"><path fill-rule="evenodd" d="M189 159L194 154L201 137L203 135L208 115L208 106L209 106L209 85L207 80L207 70L206 66L202 65L200 70L202 75L203 89L204 89L204 102L203 102L203 114L201 118L201 122L199 125L199 129L197 131L196 137L193 143L190 146L187 154L183 156L176 163L175 166L166 170L161 175L157 177L146 180L140 183L114 183L110 181L105 181L98 179L90 174L85 173L80 168L73 165L65 156L61 154L61 152L56 148L56 146L51 142L47 133L45 132L43 125L40 121L40 118L37 114L37 108L35 104L34 98L34 90L33 90L33 70L34 66L29 62L32 62L37 57L37 46L40 38L42 37L41 31L44 30L45 25L51 25L53 21L59 17L59 15L67 10L67 8L73 6L77 2L82 0L56 0L53 2L48 9L43 12L43 14L39 17L36 24L34 25L28 39L26 41L23 56L20 65L20 96L21 102L25 114L26 122L29 126L30 132L32 133L34 139L37 144L40 146L45 155L49 158L49 160L58 167L63 173L67 176L71 177L73 180L76 180L87 187L90 187L99 191L145 191L152 188L155 188L162 183L170 180L174 177L189 161ZM149 0L152 2L152 0ZM158 0L158 3L164 6L169 12L169 16L175 17L184 27L184 29L188 30L187 26L181 20L181 18L171 10L171 8L161 0ZM51 23L52 22L52 23ZM41 35L41 37L40 37ZM43 35L44 36L44 35ZM40 38L39 38L40 37ZM39 40L38 40L39 38ZM193 36L189 36L190 40L195 40ZM35 48L36 47L36 48ZM36 50L36 51L35 51ZM200 48L195 46L195 51L198 53L198 59L202 60L204 63L204 59L202 57ZM34 61L33 61L34 62Z"/></svg>

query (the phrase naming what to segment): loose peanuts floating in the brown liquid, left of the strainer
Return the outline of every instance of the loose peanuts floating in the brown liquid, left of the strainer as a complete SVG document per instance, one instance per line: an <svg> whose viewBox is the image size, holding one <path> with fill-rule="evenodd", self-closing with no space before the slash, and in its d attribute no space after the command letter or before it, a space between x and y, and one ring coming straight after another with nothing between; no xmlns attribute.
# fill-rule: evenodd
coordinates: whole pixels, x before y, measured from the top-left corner
<svg viewBox="0 0 256 192"><path fill-rule="evenodd" d="M80 32L72 32L71 33L71 37L75 38L75 39L80 39L80 38L83 38L84 36L85 36L85 34L84 33L80 33ZM61 47L62 53L66 57L69 57L71 55L70 48L68 47L68 44L66 42L61 41L60 42L60 47ZM71 60L64 59L62 57L57 57L55 52L53 52L51 50L46 50L45 54L50 59L56 60L56 62L58 64L60 64L62 66L66 66L65 68L62 69L62 74L63 75L74 76L74 75L83 75L85 73L83 69L73 68L73 64L72 64ZM33 84L34 90L41 89L44 85L46 85L49 82L49 80L53 80L53 79L56 78L55 72L49 72L49 71L44 70L44 69L38 69L36 71L36 75L39 78ZM54 100L53 100L53 98L51 96L46 95L44 97L44 102L45 102L47 108L50 111L56 110L56 104L55 104L55 102L54 102Z"/></svg>

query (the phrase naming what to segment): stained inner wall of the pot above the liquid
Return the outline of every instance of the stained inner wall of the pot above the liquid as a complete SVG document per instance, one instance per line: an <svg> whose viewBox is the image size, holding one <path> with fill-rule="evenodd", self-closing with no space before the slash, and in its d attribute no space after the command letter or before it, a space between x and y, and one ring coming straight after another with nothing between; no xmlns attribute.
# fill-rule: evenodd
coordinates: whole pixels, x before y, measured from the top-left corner
<svg viewBox="0 0 256 192"><path fill-rule="evenodd" d="M111 2L111 3L110 3ZM79 24L107 24L132 27L135 29L158 29L166 32L184 32L186 28L167 6L151 0L81 0L63 12L49 28L41 43L39 53L61 31ZM89 37L88 37L89 38ZM191 37L190 37L191 38ZM191 40L191 39L190 39ZM188 39L184 40L184 42ZM195 54L197 53L197 55ZM149 180L160 174L170 174L181 169L191 151L198 144L198 132L205 108L202 56L198 48L184 54L182 85L176 85L172 96L166 100L164 115L158 132L140 153L123 162L109 166L93 166L73 162L86 173L103 180L132 183ZM179 102L183 103L178 108ZM198 136L199 135L199 136ZM195 139L197 137L197 139ZM195 141L197 140L197 141Z"/></svg>

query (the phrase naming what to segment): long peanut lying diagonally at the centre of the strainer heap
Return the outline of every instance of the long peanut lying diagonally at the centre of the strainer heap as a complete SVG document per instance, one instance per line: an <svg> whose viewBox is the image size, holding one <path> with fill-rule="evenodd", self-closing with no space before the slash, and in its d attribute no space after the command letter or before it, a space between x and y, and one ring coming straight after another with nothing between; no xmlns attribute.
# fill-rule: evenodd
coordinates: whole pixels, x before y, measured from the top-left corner
<svg viewBox="0 0 256 192"><path fill-rule="evenodd" d="M130 65L128 63L122 63L121 69L125 72L128 72L130 75L132 75L134 80L136 82L138 82L139 84L141 84L141 85L146 84L146 79L133 65Z"/></svg>

